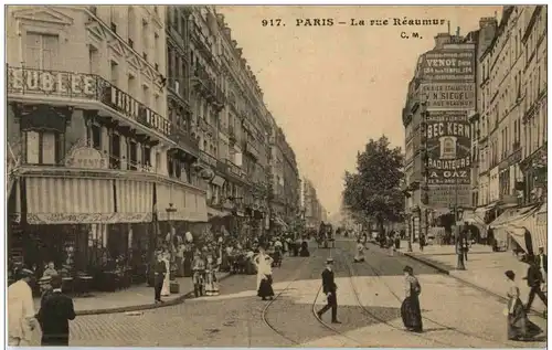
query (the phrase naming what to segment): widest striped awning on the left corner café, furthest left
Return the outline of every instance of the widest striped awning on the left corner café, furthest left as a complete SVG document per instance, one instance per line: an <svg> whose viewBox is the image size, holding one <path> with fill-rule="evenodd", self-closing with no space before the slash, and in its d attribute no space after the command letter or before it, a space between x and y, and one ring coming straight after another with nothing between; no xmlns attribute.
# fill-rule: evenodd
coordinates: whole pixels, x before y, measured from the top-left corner
<svg viewBox="0 0 552 350"><path fill-rule="evenodd" d="M25 179L29 224L112 223L113 180L29 177Z"/></svg>

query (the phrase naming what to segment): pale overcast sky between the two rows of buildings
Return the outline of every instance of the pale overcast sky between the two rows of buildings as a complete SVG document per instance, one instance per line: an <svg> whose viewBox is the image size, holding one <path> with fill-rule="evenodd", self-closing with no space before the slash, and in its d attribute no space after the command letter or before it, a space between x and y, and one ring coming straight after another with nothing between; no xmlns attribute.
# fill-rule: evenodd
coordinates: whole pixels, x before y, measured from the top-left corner
<svg viewBox="0 0 552 350"><path fill-rule="evenodd" d="M357 151L385 134L404 149L401 110L417 56L447 24L396 26L393 18L444 19L460 34L501 7L216 7L243 47L265 103L294 148L301 177L330 215L339 210L343 173ZM297 19L390 19L386 26L296 26ZM282 19L285 26L263 26ZM445 22L446 22L445 21ZM277 21L273 21L276 24ZM404 31L421 39L401 39Z"/></svg>

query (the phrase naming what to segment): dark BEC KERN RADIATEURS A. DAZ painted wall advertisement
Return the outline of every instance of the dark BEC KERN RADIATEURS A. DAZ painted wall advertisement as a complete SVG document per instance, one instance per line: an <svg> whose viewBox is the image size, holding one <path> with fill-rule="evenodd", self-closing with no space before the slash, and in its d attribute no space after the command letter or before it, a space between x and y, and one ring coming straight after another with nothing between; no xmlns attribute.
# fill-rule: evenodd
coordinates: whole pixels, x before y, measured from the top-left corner
<svg viewBox="0 0 552 350"><path fill-rule="evenodd" d="M471 134L467 112L429 112L428 184L470 184Z"/></svg>

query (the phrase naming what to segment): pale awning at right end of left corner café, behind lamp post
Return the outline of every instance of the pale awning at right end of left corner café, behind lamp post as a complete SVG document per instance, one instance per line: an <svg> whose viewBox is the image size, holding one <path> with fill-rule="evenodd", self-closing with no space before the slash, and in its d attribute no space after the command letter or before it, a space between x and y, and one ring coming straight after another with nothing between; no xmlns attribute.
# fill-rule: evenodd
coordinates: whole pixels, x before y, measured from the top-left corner
<svg viewBox="0 0 552 350"><path fill-rule="evenodd" d="M201 190L178 183L157 183L156 194L159 221L169 219L190 222L208 221L205 194ZM168 214L167 209L171 203L176 211Z"/></svg>

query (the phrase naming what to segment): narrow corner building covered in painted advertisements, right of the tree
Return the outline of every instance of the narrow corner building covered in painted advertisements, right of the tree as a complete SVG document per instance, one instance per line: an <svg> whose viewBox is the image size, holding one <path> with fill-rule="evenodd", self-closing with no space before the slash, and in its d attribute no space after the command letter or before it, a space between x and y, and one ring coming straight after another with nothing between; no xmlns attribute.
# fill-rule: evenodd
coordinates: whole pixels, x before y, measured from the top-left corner
<svg viewBox="0 0 552 350"><path fill-rule="evenodd" d="M485 21L481 20L484 23ZM403 108L406 226L411 240L444 214L471 208L469 115L476 109L476 52L487 29L439 33L418 59Z"/></svg>

